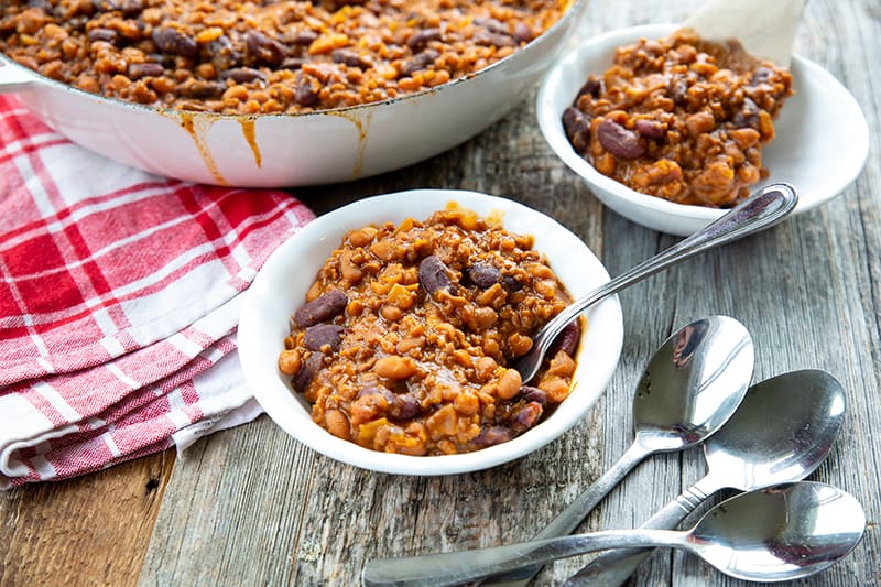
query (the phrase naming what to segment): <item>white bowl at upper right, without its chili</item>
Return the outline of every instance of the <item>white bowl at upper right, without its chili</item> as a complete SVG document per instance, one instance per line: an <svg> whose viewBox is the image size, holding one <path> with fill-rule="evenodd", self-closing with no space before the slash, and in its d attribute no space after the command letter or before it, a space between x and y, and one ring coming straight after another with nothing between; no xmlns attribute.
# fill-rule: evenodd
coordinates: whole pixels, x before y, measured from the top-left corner
<svg viewBox="0 0 881 587"><path fill-rule="evenodd" d="M660 39L675 24L652 24L612 31L569 51L547 73L539 90L539 126L556 154L590 187L606 206L654 230L686 236L721 216L725 210L674 204L639 194L597 172L569 144L561 117L589 74L612 64L614 48L640 37ZM869 154L869 128L853 96L819 65L792 59L791 97L775 122L776 138L762 150L771 175L755 189L788 182L798 189L795 213L824 204L841 193L862 171Z"/></svg>

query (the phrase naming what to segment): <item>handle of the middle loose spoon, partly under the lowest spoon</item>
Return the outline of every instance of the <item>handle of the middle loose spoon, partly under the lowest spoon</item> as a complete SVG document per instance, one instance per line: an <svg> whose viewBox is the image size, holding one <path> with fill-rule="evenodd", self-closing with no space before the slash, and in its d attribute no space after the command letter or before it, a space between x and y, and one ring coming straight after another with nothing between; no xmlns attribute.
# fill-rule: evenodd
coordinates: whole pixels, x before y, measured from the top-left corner
<svg viewBox="0 0 881 587"><path fill-rule="evenodd" d="M640 528L674 529L678 526L695 508L711 493L718 491L718 488L713 488L713 490L703 489L700 486L706 482L706 480L707 478L705 477L683 491L676 499L649 518ZM621 548L609 551L581 567L578 573L566 580L564 587L575 587L577 585L618 587L627 581L637 570L637 567L649 558L653 552L652 548Z"/></svg>

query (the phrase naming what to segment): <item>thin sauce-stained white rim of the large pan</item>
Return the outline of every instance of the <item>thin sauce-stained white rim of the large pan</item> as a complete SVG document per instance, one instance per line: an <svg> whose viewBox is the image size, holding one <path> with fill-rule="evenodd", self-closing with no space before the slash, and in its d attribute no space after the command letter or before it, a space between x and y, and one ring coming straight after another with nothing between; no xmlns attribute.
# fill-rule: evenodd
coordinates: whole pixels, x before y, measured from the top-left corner
<svg viewBox="0 0 881 587"><path fill-rule="evenodd" d="M104 96L101 94L86 91L84 89L80 89L80 88L78 88L76 86L73 86L73 85L69 85L69 84L64 84L62 81L58 81L57 79L53 79L51 77L46 77L46 76L44 76L43 74L41 74L39 72L34 72L33 69L30 69L30 68L19 64L12 57L8 56L3 52L0 52L0 67L3 67L3 66L12 67L13 70L17 70L18 73L24 74L24 75L26 75L29 77L32 77L33 78L32 81L34 84L37 84L37 85L41 85L41 86L48 86L48 87L51 87L53 89L57 89L57 90L62 90L62 91L68 91L68 93L72 93L72 94L74 94L76 96L79 96L79 97L83 97L83 98L89 98L89 99L95 99L95 100L99 100L99 101L107 101L107 102L110 102L110 104L113 104L113 105L117 105L117 106L121 106L123 108L128 108L128 109L131 109L131 110L140 111L140 112L154 112L154 113L159 113L159 115L163 115L163 116L167 116L167 117L181 116L182 113L184 113L186 116L194 116L194 117L208 117L208 118L210 118L213 120L225 120L225 119L228 119L228 120L241 120L241 119L246 119L246 120L254 120L254 119L272 120L272 119L308 119L309 117L322 117L322 116L325 116L325 115L339 116L339 115L345 115L345 113L358 111L358 110L361 110L361 109L370 109L370 108L373 108L373 107L392 106L392 105L395 105L398 102L410 101L410 100L416 99L417 97L423 97L423 96L426 96L426 95L437 94L439 91L445 91L448 88L456 87L456 86L458 86L460 84L464 84L466 81L469 81L469 80L478 78L478 77L486 77L486 73L487 72L494 70L494 69L497 69L499 67L502 67L503 66L502 64L507 64L507 63L510 63L511 61L513 61L515 58L519 58L518 57L519 55L523 54L527 48L532 47L533 45L542 42L542 40L551 37L552 34L554 32L556 32L558 29L564 28L564 26L574 26L573 23L569 23L567 21L575 19L574 14L576 12L580 11L580 9L584 6L586 6L587 2L588 2L588 0L572 0L572 3L566 9L566 11L559 17L559 19L557 19L557 21L554 22L554 24L552 24L548 29L546 29L542 34L540 34L539 36L536 36L535 39L533 39L532 41L530 41L529 43L526 43L525 45L523 45L519 50L514 51L510 55L508 55L508 56L505 56L505 57L503 57L503 58L501 58L501 59L499 59L497 62L493 62L493 63L489 64L488 66L483 67L482 69L474 72L472 74L466 75L464 77L457 77L455 79L450 79L449 81L446 81L445 84L440 84L439 86L436 86L436 87L433 87L433 88L421 89L420 91L416 91L416 93L413 93L413 94L405 94L403 96L396 96L394 98L387 98L384 100L380 100L380 101L376 101L376 102L356 104L356 105L352 105L352 106L341 106L341 107L336 107L336 108L327 108L327 109L323 109L323 110L313 110L311 112L294 112L294 113L273 112L273 113L246 115L246 113L221 113L221 112L210 112L210 111L199 111L199 110L185 110L185 109L182 109L182 108L163 108L163 107L156 107L156 106L151 106L151 105L144 105L144 104L127 101L127 100L123 100L121 98ZM21 90L15 90L14 93L18 93L18 91L28 91L28 90L21 89ZM2 93L0 93L0 94L2 94Z"/></svg>

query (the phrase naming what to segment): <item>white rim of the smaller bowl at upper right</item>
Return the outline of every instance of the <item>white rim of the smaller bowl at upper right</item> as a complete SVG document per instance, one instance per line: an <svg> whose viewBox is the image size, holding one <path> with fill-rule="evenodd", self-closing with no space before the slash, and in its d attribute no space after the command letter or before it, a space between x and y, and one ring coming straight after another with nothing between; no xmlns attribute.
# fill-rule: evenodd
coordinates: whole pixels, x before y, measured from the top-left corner
<svg viewBox="0 0 881 587"><path fill-rule="evenodd" d="M605 191L607 194L626 200L633 206L638 206L639 208L650 210L659 215L664 215L671 219L688 219L709 222L722 216L726 211L728 211L728 209L709 208L694 204L678 204L660 197L642 194L607 175L599 173L590 163L585 161L575 152L574 149L572 149L565 132L562 130L562 123L558 120L558 116L556 116L551 108L551 94L554 91L554 86L559 85L559 78L563 75L563 72L567 68L574 67L575 62L581 58L583 53L597 53L597 48L605 50L609 44L620 46L621 44L631 44L640 37L652 39L657 35L670 34L682 26L682 24L677 23L641 24L637 26L627 26L607 31L602 34L586 39L585 41L578 43L575 47L566 51L566 53L559 59L557 59L553 67L548 69L548 72L542 77L536 96L535 108L539 118L539 128L544 135L545 142L547 142L556 155L563 160L566 166L568 166L587 183L595 185L597 188ZM844 182L841 183L841 189L839 189L837 193L824 194L820 197L800 198L796 209L794 210L794 214L798 214L816 208L817 206L820 206L822 204L835 198L838 194L840 194L840 192L856 181L857 177L859 177L869 156L869 133L868 122L866 121L866 116L862 112L859 102L857 102L856 98L853 98L850 91L829 72L827 72L819 64L803 57L797 53L792 55L790 70L793 69L798 69L800 72L809 72L808 75L813 76L823 76L824 78L828 78L828 81L840 86L840 88L844 90L841 98L847 100L847 108L861 118L862 124L860 128L864 131L861 132L859 137L855 137L855 142L859 145L861 155L855 161L856 164L851 167L850 173L842 177ZM764 184L757 184L757 186L761 185Z"/></svg>

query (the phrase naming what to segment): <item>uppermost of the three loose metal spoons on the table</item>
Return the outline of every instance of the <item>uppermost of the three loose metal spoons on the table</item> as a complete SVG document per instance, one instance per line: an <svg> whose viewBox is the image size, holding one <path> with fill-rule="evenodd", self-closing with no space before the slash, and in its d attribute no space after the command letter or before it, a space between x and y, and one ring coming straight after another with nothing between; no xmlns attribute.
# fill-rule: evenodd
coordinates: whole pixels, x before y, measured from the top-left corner
<svg viewBox="0 0 881 587"><path fill-rule="evenodd" d="M674 333L655 351L637 385L633 444L533 540L575 530L646 456L684 450L719 430L743 400L753 362L752 338L733 318L710 316ZM541 568L518 569L487 583L525 585Z"/></svg>

